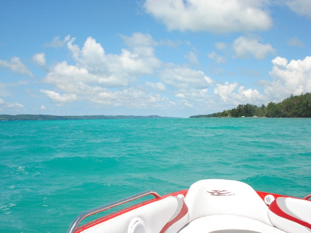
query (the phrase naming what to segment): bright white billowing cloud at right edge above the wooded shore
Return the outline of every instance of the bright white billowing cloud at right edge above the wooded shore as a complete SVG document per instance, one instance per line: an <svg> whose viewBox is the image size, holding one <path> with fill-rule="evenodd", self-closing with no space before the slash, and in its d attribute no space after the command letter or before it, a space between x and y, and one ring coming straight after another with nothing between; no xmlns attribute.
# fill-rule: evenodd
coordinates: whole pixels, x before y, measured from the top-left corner
<svg viewBox="0 0 311 233"><path fill-rule="evenodd" d="M273 68L269 72L273 82L266 87L265 93L279 102L290 94L299 95L311 92L311 57L304 60L291 60L284 57L272 60Z"/></svg>

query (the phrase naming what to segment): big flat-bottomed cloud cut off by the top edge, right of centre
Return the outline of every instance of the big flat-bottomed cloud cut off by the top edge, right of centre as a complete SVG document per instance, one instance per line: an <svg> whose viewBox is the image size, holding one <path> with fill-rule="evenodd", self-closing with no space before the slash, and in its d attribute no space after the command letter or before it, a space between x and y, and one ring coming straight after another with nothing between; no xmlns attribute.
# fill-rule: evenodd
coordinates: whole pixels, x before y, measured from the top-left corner
<svg viewBox="0 0 311 233"><path fill-rule="evenodd" d="M211 31L214 33L267 30L272 19L264 0L147 0L146 12L169 30Z"/></svg>

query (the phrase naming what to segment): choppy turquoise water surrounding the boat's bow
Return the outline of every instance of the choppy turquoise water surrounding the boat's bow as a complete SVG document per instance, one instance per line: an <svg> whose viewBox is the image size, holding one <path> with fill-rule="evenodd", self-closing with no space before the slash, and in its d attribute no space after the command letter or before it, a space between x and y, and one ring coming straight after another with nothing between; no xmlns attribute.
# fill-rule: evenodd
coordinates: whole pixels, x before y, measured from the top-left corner
<svg viewBox="0 0 311 233"><path fill-rule="evenodd" d="M0 122L0 233L66 232L90 208L197 180L311 192L311 119Z"/></svg>

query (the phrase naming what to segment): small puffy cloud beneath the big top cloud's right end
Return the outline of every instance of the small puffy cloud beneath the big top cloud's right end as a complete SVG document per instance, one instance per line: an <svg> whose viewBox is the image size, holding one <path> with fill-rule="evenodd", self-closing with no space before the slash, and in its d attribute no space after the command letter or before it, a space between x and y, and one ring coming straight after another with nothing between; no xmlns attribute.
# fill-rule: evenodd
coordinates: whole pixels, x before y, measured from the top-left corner
<svg viewBox="0 0 311 233"><path fill-rule="evenodd" d="M276 49L271 44L262 44L256 38L247 38L245 36L235 39L232 48L235 52L234 57L237 58L253 56L256 59L264 59L268 54L276 52Z"/></svg>

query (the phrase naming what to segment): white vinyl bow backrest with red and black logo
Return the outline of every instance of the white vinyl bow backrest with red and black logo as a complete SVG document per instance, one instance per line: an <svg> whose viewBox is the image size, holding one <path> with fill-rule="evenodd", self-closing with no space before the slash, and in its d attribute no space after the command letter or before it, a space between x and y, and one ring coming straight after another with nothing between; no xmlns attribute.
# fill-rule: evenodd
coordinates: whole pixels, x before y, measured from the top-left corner
<svg viewBox="0 0 311 233"><path fill-rule="evenodd" d="M197 181L190 186L185 202L189 209L189 222L210 215L236 215L272 226L267 205L251 186L240 181Z"/></svg>

